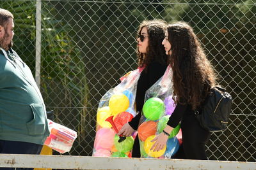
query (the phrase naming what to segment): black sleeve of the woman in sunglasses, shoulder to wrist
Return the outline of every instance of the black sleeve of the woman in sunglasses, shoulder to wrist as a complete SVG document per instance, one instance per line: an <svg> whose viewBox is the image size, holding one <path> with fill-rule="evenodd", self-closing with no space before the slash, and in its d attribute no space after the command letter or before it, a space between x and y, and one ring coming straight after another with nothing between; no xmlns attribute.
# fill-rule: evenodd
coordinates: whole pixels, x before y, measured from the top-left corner
<svg viewBox="0 0 256 170"><path fill-rule="evenodd" d="M132 129L138 129L138 125L140 122L141 110L143 108L143 104L145 101L145 93L146 91L156 83L161 76L163 76L166 65L162 65L159 62L152 62L149 64L147 68L145 68L141 72L140 79L138 80L137 90L136 90L136 111L138 115L132 118L129 125L131 125Z"/></svg>

